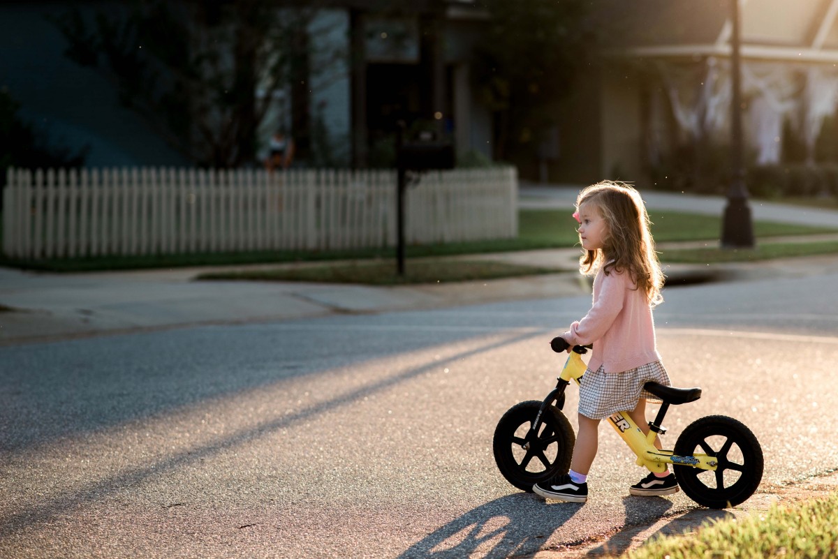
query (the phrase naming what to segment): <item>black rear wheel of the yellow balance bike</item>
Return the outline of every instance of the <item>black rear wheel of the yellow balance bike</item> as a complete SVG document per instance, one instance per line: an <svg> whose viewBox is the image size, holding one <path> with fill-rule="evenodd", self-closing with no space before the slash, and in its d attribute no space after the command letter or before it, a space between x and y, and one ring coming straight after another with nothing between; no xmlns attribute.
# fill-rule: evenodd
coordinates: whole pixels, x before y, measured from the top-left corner
<svg viewBox="0 0 838 559"><path fill-rule="evenodd" d="M675 464L675 478L684 493L699 505L725 509L753 495L763 479L763 449L751 430L736 419L711 415L696 419L680 433L675 454L708 454L716 471Z"/></svg>

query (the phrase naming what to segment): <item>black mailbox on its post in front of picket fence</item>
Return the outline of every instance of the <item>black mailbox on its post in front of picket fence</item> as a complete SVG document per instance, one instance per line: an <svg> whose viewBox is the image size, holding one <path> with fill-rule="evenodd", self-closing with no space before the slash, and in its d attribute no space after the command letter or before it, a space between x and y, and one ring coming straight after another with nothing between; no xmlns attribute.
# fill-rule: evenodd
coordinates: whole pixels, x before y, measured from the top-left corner
<svg viewBox="0 0 838 559"><path fill-rule="evenodd" d="M450 143L436 141L431 137L420 137L406 142L405 124L400 122L396 132L396 270L405 274L405 192L407 172L423 172L431 169L453 169L454 147Z"/></svg>

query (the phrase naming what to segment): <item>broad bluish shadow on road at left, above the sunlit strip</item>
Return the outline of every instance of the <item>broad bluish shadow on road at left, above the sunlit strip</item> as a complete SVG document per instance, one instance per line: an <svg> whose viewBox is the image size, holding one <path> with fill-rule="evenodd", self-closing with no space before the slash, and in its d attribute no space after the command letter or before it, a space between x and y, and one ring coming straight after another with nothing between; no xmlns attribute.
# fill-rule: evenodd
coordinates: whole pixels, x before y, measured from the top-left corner
<svg viewBox="0 0 838 559"><path fill-rule="evenodd" d="M4 347L0 451L95 433L287 378L486 333L468 326L400 329L369 317Z"/></svg>

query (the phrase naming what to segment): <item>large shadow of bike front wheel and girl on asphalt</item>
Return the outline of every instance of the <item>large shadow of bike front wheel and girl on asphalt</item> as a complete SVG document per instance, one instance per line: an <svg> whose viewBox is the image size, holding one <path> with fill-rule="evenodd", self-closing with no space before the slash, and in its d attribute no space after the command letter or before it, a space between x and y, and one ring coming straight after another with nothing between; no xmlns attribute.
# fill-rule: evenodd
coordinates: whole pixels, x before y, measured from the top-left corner
<svg viewBox="0 0 838 559"><path fill-rule="evenodd" d="M535 553L581 508L571 503L546 506L528 493L505 495L448 522L397 559L495 559Z"/></svg>

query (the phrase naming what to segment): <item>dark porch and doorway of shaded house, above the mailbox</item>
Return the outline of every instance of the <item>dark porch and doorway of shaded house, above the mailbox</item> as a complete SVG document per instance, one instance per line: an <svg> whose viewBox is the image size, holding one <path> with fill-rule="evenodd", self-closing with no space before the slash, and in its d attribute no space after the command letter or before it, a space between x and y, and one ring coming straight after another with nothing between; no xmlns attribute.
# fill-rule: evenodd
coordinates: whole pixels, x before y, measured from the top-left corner
<svg viewBox="0 0 838 559"><path fill-rule="evenodd" d="M399 120L436 121L456 151L491 157L492 115L476 99L470 61L486 16L473 0L414 3L416 15L387 18L354 12L358 48L353 71L354 162L365 167ZM364 153L364 146L370 152Z"/></svg>

